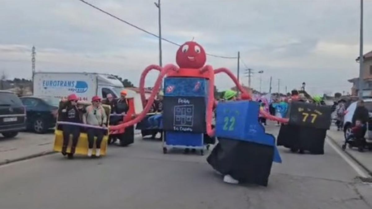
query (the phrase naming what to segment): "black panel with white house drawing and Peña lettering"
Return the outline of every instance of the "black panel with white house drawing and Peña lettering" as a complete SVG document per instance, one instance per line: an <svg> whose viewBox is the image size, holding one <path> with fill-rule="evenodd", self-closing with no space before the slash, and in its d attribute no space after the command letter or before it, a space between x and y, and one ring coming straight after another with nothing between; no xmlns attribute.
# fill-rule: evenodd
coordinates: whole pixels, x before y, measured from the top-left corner
<svg viewBox="0 0 372 209"><path fill-rule="evenodd" d="M205 133L205 97L164 97L163 129Z"/></svg>

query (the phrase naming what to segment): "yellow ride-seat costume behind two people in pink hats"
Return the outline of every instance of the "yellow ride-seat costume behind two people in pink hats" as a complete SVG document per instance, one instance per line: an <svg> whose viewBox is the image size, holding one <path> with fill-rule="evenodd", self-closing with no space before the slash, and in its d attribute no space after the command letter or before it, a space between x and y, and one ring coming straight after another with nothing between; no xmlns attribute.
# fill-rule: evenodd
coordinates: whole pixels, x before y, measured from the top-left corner
<svg viewBox="0 0 372 209"><path fill-rule="evenodd" d="M108 118L108 123L109 123L111 108L109 105L102 105L102 106L105 109L106 115L108 116L107 118ZM61 107L61 104L60 104L60 107ZM54 135L55 135L55 138L54 138L53 150L56 152L61 152L62 145L63 145L63 131L56 128L54 131ZM103 136L103 139L101 142L101 148L100 148L100 155L106 155L108 139L109 139L108 134ZM96 149L95 149L96 141L97 141L97 137L94 137L93 155L96 154ZM71 152L71 145L72 145L72 135L70 135L70 139L68 141L67 153ZM75 149L75 154L79 154L79 155L88 154L88 135L86 133L83 133L83 132L80 133L80 136L79 136L79 139L76 145L76 149Z"/></svg>

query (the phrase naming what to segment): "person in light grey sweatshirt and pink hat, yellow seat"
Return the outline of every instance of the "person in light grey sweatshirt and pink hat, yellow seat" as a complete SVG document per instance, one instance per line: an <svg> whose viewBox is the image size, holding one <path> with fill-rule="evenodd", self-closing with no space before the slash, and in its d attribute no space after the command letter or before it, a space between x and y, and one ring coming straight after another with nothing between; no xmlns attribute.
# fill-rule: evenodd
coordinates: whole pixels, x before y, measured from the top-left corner
<svg viewBox="0 0 372 209"><path fill-rule="evenodd" d="M86 108L86 113L83 117L84 123L88 125L100 126L100 127L107 127L107 116L105 109L103 109L101 105L101 98L99 96L94 96L92 98L92 105ZM101 142L103 139L103 135L105 134L105 130L99 128L88 128L87 135L88 135L88 157L92 156L93 153L93 144L94 144L94 136L97 137L96 141L96 157L100 156L101 151Z"/></svg>

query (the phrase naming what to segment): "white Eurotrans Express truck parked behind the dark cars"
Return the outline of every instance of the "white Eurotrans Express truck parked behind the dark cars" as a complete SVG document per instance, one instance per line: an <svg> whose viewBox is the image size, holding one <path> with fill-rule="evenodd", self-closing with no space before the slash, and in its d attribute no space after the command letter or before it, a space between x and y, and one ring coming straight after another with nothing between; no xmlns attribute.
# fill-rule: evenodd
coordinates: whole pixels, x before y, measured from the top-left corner
<svg viewBox="0 0 372 209"><path fill-rule="evenodd" d="M33 95L36 97L67 98L76 94L80 100L88 101L98 95L106 98L107 94L120 97L124 86L118 78L110 74L100 73L57 73L36 72L33 78ZM127 97L134 98L135 112L142 111L140 94L126 89Z"/></svg>

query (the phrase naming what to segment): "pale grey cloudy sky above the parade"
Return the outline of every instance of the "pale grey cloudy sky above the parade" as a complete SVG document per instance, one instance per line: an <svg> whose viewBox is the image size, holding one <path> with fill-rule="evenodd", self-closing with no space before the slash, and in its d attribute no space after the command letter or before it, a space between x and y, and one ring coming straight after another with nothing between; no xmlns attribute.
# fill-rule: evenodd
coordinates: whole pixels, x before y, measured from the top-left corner
<svg viewBox="0 0 372 209"><path fill-rule="evenodd" d="M87 0L157 33L154 0ZM37 71L117 74L138 84L142 70L158 64L158 40L78 0L0 0L0 71L31 78ZM236 56L256 72L262 89L288 91L307 83L310 93L350 91L358 75L359 0L162 0L163 37L195 37L210 54ZM365 0L365 47L372 50L372 0ZM163 42L163 63L175 63L177 46ZM207 57L214 68L237 72L236 59ZM244 78L241 66L241 77ZM149 74L148 86L156 73ZM259 89L259 75L252 79ZM218 89L233 84L218 75Z"/></svg>

